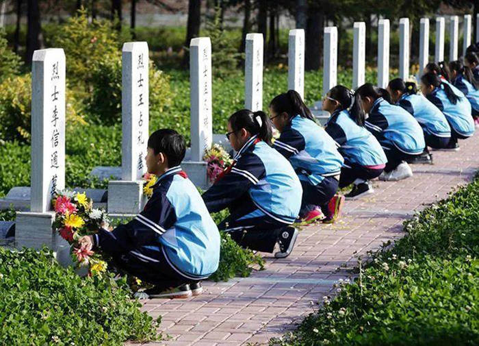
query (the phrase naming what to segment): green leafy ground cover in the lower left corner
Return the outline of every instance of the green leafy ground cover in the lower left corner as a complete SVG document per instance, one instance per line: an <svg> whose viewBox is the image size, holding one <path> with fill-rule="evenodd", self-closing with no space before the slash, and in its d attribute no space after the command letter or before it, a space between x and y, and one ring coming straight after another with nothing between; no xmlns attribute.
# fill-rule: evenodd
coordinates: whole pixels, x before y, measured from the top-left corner
<svg viewBox="0 0 479 346"><path fill-rule="evenodd" d="M0 345L123 345L155 341L125 280L79 277L51 251L0 247Z"/></svg>

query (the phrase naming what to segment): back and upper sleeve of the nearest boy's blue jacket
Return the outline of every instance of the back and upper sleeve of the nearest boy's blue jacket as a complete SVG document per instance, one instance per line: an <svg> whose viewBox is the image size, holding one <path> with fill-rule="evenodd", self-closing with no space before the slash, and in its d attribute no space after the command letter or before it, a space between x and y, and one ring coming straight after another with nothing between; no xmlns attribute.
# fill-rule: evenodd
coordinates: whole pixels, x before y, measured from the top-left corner
<svg viewBox="0 0 479 346"><path fill-rule="evenodd" d="M158 223L151 221L158 218ZM153 186L153 195L136 220L161 234L158 241L164 245L166 259L182 275L198 280L218 269L218 227L179 166L167 171ZM154 244L145 246L155 249Z"/></svg>

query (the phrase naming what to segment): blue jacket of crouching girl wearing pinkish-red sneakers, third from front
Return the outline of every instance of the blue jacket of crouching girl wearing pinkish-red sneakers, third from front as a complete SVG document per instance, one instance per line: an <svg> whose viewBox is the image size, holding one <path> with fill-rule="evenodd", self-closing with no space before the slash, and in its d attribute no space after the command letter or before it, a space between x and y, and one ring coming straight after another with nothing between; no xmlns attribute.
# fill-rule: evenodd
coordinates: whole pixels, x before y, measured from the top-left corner
<svg viewBox="0 0 479 346"><path fill-rule="evenodd" d="M306 171L300 174L300 179L307 179L313 185L326 176L338 175L344 162L333 138L314 121L299 115L294 116L291 125L274 142L274 147L292 151L289 161L294 169Z"/></svg>

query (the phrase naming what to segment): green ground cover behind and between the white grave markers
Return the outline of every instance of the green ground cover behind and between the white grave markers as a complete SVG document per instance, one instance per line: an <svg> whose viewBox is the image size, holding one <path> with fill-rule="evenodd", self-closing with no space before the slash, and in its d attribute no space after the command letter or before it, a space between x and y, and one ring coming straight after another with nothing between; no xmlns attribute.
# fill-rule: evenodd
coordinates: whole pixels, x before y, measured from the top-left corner
<svg viewBox="0 0 479 346"><path fill-rule="evenodd" d="M166 72L170 84L170 104L150 115L150 132L162 127L176 129L190 141L190 79L187 71ZM352 84L352 71L338 71L338 83ZM366 79L374 82L376 72L369 69ZM287 69L265 69L263 110L271 99L287 89ZM313 105L321 99L322 71L305 73L305 101ZM161 93L161 90L159 91ZM154 96L154 95L153 95ZM152 95L151 95L152 97ZM68 102L68 95L67 95ZM213 133L225 133L226 121L233 112L244 108L244 74L235 71L227 77L213 77ZM87 112L87 110L83 110ZM103 116L105 115L105 116ZM84 125L66 127L66 186L106 188L106 182L88 177L94 166L120 166L121 120L108 125L107 114L87 114ZM0 197L14 186L30 184L30 145L0 140Z"/></svg>

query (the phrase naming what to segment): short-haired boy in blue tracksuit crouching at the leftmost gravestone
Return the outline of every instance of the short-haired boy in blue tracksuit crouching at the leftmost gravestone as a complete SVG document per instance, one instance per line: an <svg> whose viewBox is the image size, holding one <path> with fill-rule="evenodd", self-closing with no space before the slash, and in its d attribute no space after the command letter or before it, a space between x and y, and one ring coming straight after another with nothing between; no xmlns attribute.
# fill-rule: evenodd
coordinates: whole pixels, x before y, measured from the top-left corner
<svg viewBox="0 0 479 346"><path fill-rule="evenodd" d="M146 166L158 176L144 210L112 232L99 230L80 242L99 247L114 265L155 287L139 298L183 298L201 293L200 280L218 269L220 233L198 190L179 166L185 142L172 129L148 139Z"/></svg>

